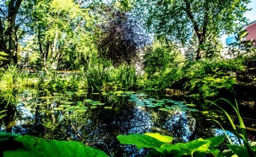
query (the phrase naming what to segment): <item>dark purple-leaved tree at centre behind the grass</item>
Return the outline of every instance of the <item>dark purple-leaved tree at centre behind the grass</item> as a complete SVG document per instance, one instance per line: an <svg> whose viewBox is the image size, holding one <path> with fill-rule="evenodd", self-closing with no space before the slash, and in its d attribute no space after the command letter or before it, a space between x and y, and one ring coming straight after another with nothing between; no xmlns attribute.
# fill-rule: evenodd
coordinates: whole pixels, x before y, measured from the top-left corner
<svg viewBox="0 0 256 157"><path fill-rule="evenodd" d="M100 24L101 34L97 43L101 57L112 60L114 65L135 63L140 50L150 44L150 36L131 13L106 5L101 9L106 21Z"/></svg>

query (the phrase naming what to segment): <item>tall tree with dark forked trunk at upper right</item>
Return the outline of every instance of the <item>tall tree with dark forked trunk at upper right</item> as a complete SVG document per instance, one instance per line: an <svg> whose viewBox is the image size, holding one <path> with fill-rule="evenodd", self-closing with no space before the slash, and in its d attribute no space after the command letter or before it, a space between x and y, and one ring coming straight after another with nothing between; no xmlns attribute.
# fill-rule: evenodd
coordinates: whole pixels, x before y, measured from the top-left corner
<svg viewBox="0 0 256 157"><path fill-rule="evenodd" d="M155 36L173 39L183 45L193 32L199 44L196 60L201 59L199 47L207 39L217 39L221 34L231 34L246 22L243 13L248 11L249 0L141 0L137 14L144 15L145 23ZM136 11L135 11L136 12Z"/></svg>

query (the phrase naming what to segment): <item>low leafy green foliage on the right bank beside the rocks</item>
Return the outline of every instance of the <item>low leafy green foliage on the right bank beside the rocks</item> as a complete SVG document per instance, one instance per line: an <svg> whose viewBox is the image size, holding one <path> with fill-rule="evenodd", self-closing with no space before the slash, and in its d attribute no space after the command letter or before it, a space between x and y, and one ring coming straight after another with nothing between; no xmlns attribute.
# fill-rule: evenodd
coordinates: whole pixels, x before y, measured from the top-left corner
<svg viewBox="0 0 256 157"><path fill-rule="evenodd" d="M236 79L228 71L244 71L243 60L200 60L183 67L193 96L215 97L221 90L232 91Z"/></svg>

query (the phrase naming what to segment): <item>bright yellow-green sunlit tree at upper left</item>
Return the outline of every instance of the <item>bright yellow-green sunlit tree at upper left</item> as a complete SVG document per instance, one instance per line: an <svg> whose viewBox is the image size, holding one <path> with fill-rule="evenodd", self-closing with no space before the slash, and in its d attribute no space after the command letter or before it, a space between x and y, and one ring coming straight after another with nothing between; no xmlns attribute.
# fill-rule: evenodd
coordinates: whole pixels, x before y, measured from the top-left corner
<svg viewBox="0 0 256 157"><path fill-rule="evenodd" d="M30 15L30 49L37 51L44 70L52 65L78 68L95 55L88 9L72 0L40 0ZM83 62L81 60L84 60ZM70 67L71 66L71 67Z"/></svg>

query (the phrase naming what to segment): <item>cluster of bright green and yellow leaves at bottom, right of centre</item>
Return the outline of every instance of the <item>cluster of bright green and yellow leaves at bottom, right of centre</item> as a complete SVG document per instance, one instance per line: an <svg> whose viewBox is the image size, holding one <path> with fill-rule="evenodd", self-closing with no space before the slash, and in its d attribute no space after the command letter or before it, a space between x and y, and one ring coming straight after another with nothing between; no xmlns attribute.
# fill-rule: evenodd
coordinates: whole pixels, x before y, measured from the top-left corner
<svg viewBox="0 0 256 157"><path fill-rule="evenodd" d="M195 139L186 144L172 144L172 137L163 136L159 133L144 133L118 135L121 144L134 144L138 149L149 148L147 156L204 156L205 154L218 155L220 150L215 149L224 140L223 136L210 139Z"/></svg>

